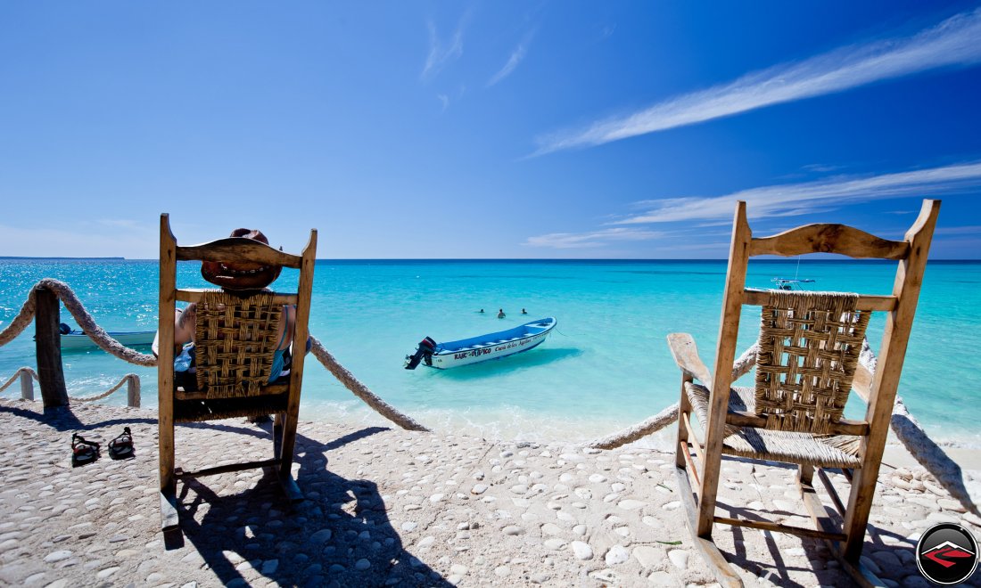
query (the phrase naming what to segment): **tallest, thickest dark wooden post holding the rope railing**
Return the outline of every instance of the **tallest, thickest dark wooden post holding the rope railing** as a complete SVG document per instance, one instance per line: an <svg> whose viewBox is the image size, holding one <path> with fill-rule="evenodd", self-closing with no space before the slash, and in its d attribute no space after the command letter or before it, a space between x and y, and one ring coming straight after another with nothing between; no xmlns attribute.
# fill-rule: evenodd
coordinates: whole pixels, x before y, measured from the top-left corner
<svg viewBox="0 0 981 588"><path fill-rule="evenodd" d="M47 288L35 290L34 330L37 379L44 408L68 406L68 390L61 362L61 322L58 296Z"/></svg>

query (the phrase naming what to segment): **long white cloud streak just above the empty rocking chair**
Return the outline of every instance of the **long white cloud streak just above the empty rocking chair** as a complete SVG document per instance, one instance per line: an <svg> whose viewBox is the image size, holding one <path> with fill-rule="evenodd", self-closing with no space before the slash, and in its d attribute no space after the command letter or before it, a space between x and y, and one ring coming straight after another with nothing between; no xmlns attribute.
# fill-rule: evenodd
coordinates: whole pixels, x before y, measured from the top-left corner
<svg viewBox="0 0 981 588"><path fill-rule="evenodd" d="M647 210L610 224L730 219L737 200L749 203L751 218L795 217L878 198L940 195L981 186L981 162L866 177L840 177L749 188L713 197L665 198L639 203Z"/></svg>

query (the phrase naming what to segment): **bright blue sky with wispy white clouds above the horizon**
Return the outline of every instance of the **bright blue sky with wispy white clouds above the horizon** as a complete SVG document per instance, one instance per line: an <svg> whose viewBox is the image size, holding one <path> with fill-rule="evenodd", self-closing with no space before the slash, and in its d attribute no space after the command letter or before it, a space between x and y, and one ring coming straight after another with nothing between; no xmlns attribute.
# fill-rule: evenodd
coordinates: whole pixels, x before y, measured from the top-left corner
<svg viewBox="0 0 981 588"><path fill-rule="evenodd" d="M259 227L319 258L981 258L978 2L6 2L0 256Z"/></svg>

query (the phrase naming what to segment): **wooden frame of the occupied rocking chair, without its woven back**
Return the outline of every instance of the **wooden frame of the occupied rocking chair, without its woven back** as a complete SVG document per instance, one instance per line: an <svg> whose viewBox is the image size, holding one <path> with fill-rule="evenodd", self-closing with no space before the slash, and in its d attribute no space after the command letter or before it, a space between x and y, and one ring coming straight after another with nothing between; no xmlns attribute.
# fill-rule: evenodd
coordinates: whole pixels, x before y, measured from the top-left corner
<svg viewBox="0 0 981 588"><path fill-rule="evenodd" d="M158 368L157 385L159 397L159 452L160 452L160 510L161 522L165 531L179 526L177 511L177 480L252 469L257 467L276 467L286 496L291 501L302 500L303 496L292 477L293 449L296 442L296 422L299 415L300 389L303 376L303 362L306 350L308 322L310 319L310 299L313 286L313 271L316 262L317 231L310 231L310 239L300 255L277 251L272 247L242 237L218 239L209 243L179 246L171 231L169 215L160 216L160 317L158 330ZM273 383L262 388L263 394L286 395L284 411L276 413L273 426L273 459L247 462L225 466L215 466L199 471L182 471L175 467L174 426L176 422L201 420L184 418L175 412L175 405L181 401L175 398L174 390L174 317L176 302L198 302L205 290L179 289L177 287L177 262L255 262L300 270L299 287L295 294L274 294L276 304L296 306L292 349L292 365L288 383ZM193 402L193 401L189 401ZM225 399L225 406L232 407L236 400ZM242 399L239 402L247 402ZM212 418L237 417L240 413L223 416L216 413Z"/></svg>

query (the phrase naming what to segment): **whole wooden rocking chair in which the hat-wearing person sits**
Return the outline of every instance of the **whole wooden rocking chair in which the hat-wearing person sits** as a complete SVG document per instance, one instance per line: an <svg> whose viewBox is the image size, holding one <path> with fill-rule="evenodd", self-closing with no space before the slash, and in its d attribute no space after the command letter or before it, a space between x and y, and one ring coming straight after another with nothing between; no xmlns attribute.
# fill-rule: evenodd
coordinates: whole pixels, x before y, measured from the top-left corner
<svg viewBox="0 0 981 588"><path fill-rule="evenodd" d="M310 317L310 295L317 250L317 231L300 255L277 251L258 241L230 237L181 247L171 232L168 215L160 216L160 325L158 331L158 396L160 399L160 510L163 529L179 526L177 479L276 467L286 496L303 496L292 478L296 419L300 406L303 359ZM242 297L222 290L177 288L177 262L252 262L300 270L295 294L269 291ZM175 302L197 303L195 335L197 391L175 386ZM292 364L288 376L268 383L284 305L296 306ZM188 386L190 388L192 386ZM199 471L181 471L174 462L174 425L232 417L275 415L273 459Z"/></svg>

